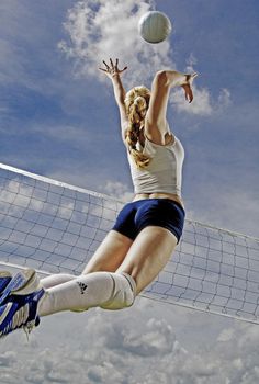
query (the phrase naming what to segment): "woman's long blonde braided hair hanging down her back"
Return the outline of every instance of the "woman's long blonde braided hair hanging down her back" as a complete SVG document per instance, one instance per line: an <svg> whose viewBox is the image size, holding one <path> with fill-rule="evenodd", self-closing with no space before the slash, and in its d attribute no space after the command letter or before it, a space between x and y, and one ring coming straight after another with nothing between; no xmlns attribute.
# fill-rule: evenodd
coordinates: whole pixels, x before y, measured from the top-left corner
<svg viewBox="0 0 259 384"><path fill-rule="evenodd" d="M137 168L145 168L150 162L150 157L137 149L140 131L144 128L145 116L148 110L150 91L144 86L134 87L125 97L124 103L128 117L126 129L126 144Z"/></svg>

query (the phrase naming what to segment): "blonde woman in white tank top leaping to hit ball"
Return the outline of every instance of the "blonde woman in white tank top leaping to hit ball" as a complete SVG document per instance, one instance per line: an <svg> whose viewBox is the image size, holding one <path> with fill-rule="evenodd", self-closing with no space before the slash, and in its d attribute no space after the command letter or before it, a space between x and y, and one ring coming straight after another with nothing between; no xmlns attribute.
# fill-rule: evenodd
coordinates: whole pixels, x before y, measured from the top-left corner
<svg viewBox="0 0 259 384"><path fill-rule="evenodd" d="M184 151L167 122L170 89L182 87L192 102L196 74L161 70L151 91L125 92L119 60L100 68L112 81L121 116L135 196L120 212L82 274L54 274L40 281L32 269L13 278L0 274L0 337L14 329L30 331L42 316L91 307L122 309L164 269L182 234L181 199Z"/></svg>

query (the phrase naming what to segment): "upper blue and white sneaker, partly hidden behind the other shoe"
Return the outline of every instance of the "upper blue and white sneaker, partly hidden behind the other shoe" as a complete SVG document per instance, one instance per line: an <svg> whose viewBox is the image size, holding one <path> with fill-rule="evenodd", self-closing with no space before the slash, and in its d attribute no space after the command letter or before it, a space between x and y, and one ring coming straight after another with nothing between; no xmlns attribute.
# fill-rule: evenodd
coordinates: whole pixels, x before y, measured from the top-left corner
<svg viewBox="0 0 259 384"><path fill-rule="evenodd" d="M0 291L0 305L3 305L12 294L19 294L21 291L23 295L34 292L37 285L38 278L33 269L20 271L11 279L10 276L3 278L3 289Z"/></svg>

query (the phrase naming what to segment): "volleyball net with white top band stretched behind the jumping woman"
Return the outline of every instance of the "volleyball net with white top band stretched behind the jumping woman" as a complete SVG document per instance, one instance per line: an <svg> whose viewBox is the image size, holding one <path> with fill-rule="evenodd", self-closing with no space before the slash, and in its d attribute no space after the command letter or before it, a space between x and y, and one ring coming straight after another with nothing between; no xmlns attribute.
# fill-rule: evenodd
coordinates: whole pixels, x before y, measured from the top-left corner
<svg viewBox="0 0 259 384"><path fill-rule="evenodd" d="M123 204L0 163L0 266L80 274ZM140 295L259 324L259 239L187 219Z"/></svg>

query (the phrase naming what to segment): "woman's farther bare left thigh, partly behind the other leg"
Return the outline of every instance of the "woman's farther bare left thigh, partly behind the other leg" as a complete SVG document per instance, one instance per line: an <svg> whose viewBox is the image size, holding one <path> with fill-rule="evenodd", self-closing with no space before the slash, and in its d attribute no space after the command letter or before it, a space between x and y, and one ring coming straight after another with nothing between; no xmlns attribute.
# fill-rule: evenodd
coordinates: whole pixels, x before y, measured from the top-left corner
<svg viewBox="0 0 259 384"><path fill-rule="evenodd" d="M101 242L82 273L98 271L115 272L127 255L133 240L111 230Z"/></svg>

